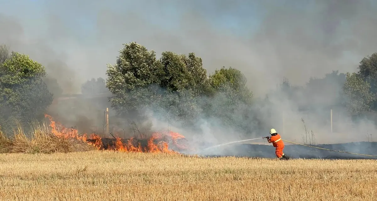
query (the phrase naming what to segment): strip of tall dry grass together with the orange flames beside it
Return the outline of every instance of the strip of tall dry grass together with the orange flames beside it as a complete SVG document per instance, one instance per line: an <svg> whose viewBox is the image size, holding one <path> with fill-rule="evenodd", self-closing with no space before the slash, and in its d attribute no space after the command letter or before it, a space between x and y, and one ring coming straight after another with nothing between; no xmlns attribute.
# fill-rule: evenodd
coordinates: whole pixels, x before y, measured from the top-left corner
<svg viewBox="0 0 377 201"><path fill-rule="evenodd" d="M77 152L90 150L109 150L119 152L161 152L178 154L169 148L173 145L177 150L184 149L178 140L184 136L175 132L154 132L148 139L103 139L92 134L79 134L73 127L66 128L46 114L49 125L33 124L31 133L26 134L22 128L17 128L12 138L0 133L0 153L54 153Z"/></svg>

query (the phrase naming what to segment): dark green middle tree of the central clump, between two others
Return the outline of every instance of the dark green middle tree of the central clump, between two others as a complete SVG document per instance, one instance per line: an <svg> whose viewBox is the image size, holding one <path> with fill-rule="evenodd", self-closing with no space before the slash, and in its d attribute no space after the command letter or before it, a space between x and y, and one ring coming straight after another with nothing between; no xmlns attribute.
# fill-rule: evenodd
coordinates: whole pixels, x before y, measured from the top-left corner
<svg viewBox="0 0 377 201"><path fill-rule="evenodd" d="M160 58L163 66L159 74L159 86L165 90L158 100L163 103L162 110L167 110L168 119L195 119L202 111L201 97L210 88L207 70L203 68L202 59L189 53L189 56L173 52L163 52Z"/></svg>

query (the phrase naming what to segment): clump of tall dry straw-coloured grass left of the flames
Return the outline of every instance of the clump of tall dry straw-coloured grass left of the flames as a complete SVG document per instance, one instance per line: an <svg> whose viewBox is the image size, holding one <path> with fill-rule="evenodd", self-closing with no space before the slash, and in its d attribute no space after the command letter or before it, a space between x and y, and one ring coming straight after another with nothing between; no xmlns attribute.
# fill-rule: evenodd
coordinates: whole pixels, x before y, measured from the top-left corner
<svg viewBox="0 0 377 201"><path fill-rule="evenodd" d="M12 138L6 137L0 131L0 153L55 153L89 151L95 147L88 143L56 137L49 132L46 124L34 123L31 133L26 134L21 127L17 128Z"/></svg>

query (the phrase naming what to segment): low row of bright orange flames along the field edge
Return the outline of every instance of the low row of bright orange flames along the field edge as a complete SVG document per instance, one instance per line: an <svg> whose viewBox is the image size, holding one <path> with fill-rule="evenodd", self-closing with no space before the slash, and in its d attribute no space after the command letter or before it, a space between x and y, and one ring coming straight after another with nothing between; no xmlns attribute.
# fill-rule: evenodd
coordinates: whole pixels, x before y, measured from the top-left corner
<svg viewBox="0 0 377 201"><path fill-rule="evenodd" d="M57 137L63 138L74 138L88 143L89 145L94 146L98 150L105 150L102 137L92 133L89 137L86 133L78 135L77 129L71 127L67 129L61 123L55 122L51 116L45 114L50 120L51 133ZM152 136L147 140L146 145L143 149L141 142L134 140L133 138L128 139L126 143L123 142L123 139L120 137L115 137L114 145L109 145L107 143L106 150L113 150L119 152L150 152L150 153L178 153L176 151L170 150L168 143L165 141L171 139L174 146L179 149L185 148L183 145L177 143L177 139L185 139L184 136L177 132L153 132ZM158 143L156 143L156 141Z"/></svg>

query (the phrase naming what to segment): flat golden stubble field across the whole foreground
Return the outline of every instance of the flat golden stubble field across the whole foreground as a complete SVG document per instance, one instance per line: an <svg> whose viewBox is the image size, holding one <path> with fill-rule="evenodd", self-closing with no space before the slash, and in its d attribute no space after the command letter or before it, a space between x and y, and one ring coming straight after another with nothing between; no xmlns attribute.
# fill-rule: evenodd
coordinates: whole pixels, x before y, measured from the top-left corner
<svg viewBox="0 0 377 201"><path fill-rule="evenodd" d="M376 160L1 154L1 200L375 200Z"/></svg>

